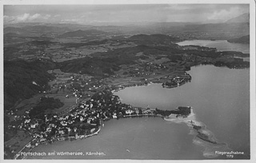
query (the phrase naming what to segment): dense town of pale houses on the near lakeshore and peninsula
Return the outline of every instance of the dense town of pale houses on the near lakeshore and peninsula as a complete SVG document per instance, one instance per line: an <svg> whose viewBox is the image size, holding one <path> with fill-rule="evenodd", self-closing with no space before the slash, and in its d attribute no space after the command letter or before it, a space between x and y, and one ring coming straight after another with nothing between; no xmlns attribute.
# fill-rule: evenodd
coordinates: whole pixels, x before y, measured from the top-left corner
<svg viewBox="0 0 256 163"><path fill-rule="evenodd" d="M105 89L95 93L90 100L81 102L66 115L47 114L44 118L37 119L30 118L30 110L27 110L18 129L28 131L34 138L26 145L26 148L30 149L48 141L92 135L99 131L101 121L153 114L154 109L122 104L118 96L113 95L110 89Z"/></svg>

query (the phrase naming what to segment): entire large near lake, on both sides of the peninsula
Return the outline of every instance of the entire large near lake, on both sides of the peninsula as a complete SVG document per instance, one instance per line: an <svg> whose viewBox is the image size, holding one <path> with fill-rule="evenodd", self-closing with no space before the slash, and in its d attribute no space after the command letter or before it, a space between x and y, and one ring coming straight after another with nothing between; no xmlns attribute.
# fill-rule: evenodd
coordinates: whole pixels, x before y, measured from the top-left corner
<svg viewBox="0 0 256 163"><path fill-rule="evenodd" d="M179 105L194 108L219 142L230 150L250 155L249 70L231 70L214 66L192 67L192 81L173 89L160 84L122 89L115 94L134 106L174 109ZM128 149L130 152L127 152ZM209 149L209 148L208 148ZM94 137L77 141L58 141L39 145L33 152L102 152L105 156L46 156L46 159L207 159L206 146L194 142L185 123L176 124L160 117L134 117L105 122ZM221 158L225 158L221 157ZM218 157L219 158L219 157Z"/></svg>

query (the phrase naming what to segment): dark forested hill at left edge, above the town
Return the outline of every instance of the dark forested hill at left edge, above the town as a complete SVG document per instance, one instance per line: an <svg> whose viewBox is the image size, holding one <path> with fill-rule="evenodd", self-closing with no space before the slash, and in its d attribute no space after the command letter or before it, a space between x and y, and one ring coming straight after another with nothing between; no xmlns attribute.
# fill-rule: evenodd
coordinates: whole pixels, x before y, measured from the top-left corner
<svg viewBox="0 0 256 163"><path fill-rule="evenodd" d="M49 88L48 81L54 77L47 73L50 62L26 62L24 60L4 62L4 109L39 91Z"/></svg>

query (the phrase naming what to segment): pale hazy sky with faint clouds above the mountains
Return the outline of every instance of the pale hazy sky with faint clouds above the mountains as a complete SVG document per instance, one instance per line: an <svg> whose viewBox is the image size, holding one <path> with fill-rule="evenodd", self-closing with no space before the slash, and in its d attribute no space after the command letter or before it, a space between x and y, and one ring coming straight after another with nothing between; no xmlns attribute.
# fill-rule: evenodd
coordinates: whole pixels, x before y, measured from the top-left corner
<svg viewBox="0 0 256 163"><path fill-rule="evenodd" d="M3 6L4 23L214 22L249 13L249 5L16 5Z"/></svg>

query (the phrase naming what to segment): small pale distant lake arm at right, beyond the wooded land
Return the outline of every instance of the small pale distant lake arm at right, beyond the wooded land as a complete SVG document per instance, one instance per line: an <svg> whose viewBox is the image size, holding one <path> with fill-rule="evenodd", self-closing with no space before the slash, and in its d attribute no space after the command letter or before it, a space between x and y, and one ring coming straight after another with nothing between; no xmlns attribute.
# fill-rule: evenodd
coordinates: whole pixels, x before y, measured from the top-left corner
<svg viewBox="0 0 256 163"><path fill-rule="evenodd" d="M178 42L179 46L206 46L217 48L220 51L241 51L244 54L250 54L249 44L231 43L226 40L187 40L184 42Z"/></svg>

